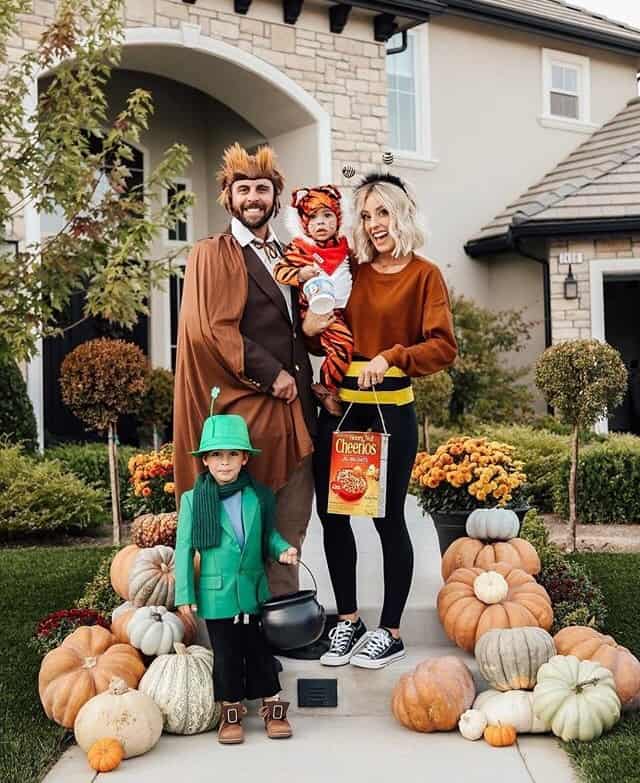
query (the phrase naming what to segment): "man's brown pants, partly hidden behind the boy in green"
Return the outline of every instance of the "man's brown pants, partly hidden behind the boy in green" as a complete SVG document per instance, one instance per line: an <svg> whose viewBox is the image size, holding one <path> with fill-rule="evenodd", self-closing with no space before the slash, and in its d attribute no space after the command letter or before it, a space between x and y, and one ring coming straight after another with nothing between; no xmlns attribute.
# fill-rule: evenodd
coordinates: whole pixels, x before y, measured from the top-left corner
<svg viewBox="0 0 640 783"><path fill-rule="evenodd" d="M307 533L312 503L313 471L309 456L297 467L285 486L276 492L276 527L280 535L296 547L298 554L302 551ZM274 596L298 590L298 569L294 566L270 562L267 577Z"/></svg>

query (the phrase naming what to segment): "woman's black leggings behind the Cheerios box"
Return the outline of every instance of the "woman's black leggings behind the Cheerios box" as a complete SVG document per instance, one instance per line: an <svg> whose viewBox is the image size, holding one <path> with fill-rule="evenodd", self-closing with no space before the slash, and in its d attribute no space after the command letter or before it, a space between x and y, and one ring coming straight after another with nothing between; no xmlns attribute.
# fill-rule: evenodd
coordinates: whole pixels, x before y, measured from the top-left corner
<svg viewBox="0 0 640 783"><path fill-rule="evenodd" d="M398 628L413 577L413 547L404 518L404 503L411 469L418 449L418 425L413 403L382 405L389 438L387 463L387 505L383 518L373 522L380 536L384 561L384 604L380 617L383 628ZM324 532L324 551L336 597L338 614L357 611L356 542L351 518L327 513L331 436L340 419L320 413L313 455L316 504ZM341 427L343 430L381 432L375 405L354 404Z"/></svg>

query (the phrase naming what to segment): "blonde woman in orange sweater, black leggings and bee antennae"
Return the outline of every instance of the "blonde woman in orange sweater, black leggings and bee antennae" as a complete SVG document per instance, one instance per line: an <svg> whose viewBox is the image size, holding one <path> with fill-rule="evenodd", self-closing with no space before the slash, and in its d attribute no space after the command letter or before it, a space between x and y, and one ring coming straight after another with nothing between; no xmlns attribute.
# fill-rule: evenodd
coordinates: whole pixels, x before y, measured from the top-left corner
<svg viewBox="0 0 640 783"><path fill-rule="evenodd" d="M414 252L423 235L406 183L390 174L365 177L355 190L355 221L359 263L345 310L354 360L340 398L346 405L353 403L344 429L380 432L377 396L391 436L386 514L374 519L384 560L384 604L379 628L367 632L358 615L351 519L327 513L331 436L340 419L323 410L314 453L316 502L339 622L320 661L327 666L352 663L377 669L406 654L400 620L413 576L413 547L404 505L418 446L411 378L449 367L457 346L442 274ZM305 331L313 330L309 323Z"/></svg>

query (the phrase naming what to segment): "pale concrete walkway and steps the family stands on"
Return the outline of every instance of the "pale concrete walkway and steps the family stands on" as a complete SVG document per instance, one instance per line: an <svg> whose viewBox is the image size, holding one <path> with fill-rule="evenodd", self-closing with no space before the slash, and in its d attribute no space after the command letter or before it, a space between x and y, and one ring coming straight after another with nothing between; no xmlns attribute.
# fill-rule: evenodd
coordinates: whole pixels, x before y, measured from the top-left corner
<svg viewBox="0 0 640 783"><path fill-rule="evenodd" d="M411 732L393 719L389 700L395 682L424 658L458 655L472 669L478 689L485 687L472 656L448 641L438 621L434 606L442 581L437 539L414 498L407 501L407 523L415 574L402 628L409 648L406 659L369 672L283 658L283 697L292 702L292 739L268 740L252 706L242 746L221 747L215 733L163 735L151 752L123 762L108 778L93 773L84 753L72 747L44 783L394 783L398 778L408 783L493 783L496 776L510 783L575 783L568 756L552 736L522 735L511 748L492 748L484 741L469 742L457 731ZM358 538L359 602L365 621L375 626L382 601L380 545L370 520L356 519L353 526ZM333 599L317 518L311 522L303 559L316 575L319 598L330 611ZM338 708L298 708L298 677L336 678Z"/></svg>

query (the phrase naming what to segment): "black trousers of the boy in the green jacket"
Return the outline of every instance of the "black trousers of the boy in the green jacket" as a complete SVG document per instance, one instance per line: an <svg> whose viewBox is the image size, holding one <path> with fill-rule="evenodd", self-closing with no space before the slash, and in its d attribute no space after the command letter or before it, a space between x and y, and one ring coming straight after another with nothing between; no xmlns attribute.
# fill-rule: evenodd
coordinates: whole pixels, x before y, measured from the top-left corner
<svg viewBox="0 0 640 783"><path fill-rule="evenodd" d="M243 622L249 617L249 623ZM281 686L272 653L257 615L207 620L213 648L213 692L216 701L261 699L280 693Z"/></svg>

